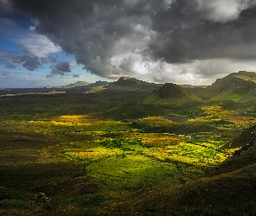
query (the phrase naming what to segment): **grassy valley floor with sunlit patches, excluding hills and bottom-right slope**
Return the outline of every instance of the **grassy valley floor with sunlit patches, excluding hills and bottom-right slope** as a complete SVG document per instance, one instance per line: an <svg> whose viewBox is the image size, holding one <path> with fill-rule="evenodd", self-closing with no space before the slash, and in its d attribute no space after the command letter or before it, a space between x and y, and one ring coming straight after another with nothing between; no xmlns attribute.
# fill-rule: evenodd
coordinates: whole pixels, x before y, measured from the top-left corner
<svg viewBox="0 0 256 216"><path fill-rule="evenodd" d="M149 106L144 96L2 97L0 215L133 215L138 200L161 200L158 193L187 188L224 162L243 146L229 144L233 137L256 123L246 104Z"/></svg>

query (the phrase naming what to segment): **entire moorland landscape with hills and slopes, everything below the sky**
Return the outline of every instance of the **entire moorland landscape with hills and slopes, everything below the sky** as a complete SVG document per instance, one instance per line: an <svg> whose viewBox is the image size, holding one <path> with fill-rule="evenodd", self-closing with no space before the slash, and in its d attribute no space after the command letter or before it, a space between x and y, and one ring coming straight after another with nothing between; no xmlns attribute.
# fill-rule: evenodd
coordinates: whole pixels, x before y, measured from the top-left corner
<svg viewBox="0 0 256 216"><path fill-rule="evenodd" d="M0 215L255 215L256 73L0 90Z"/></svg>

